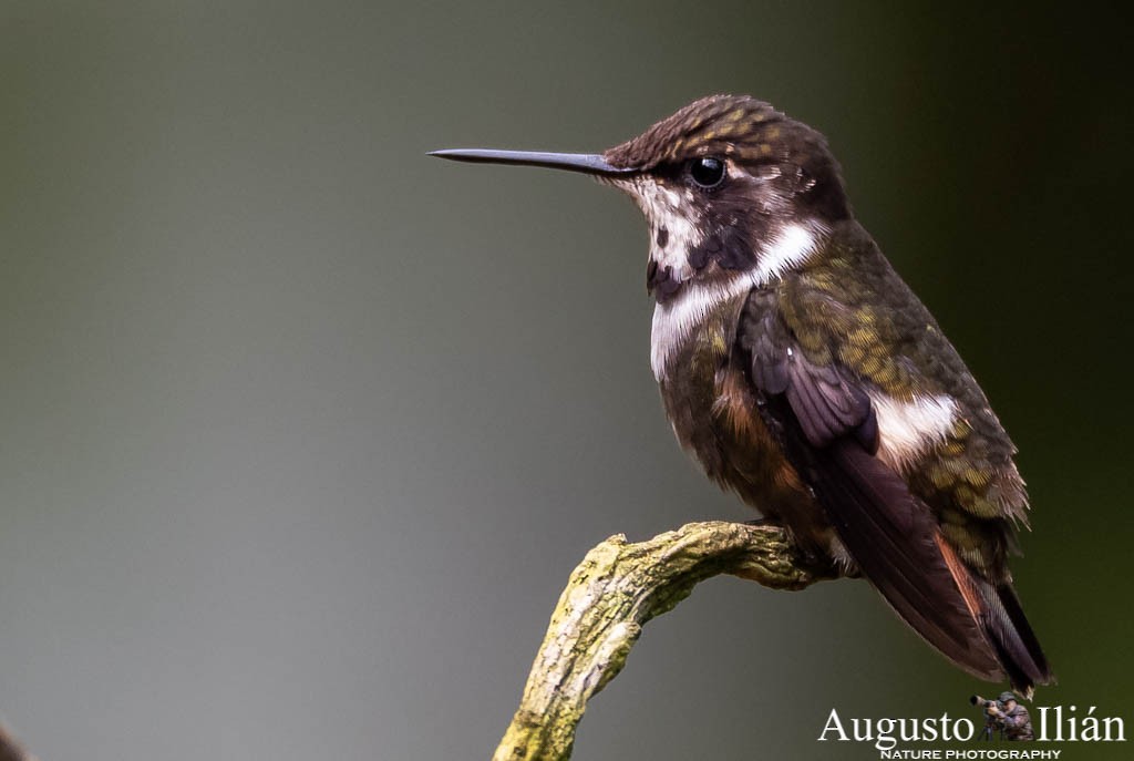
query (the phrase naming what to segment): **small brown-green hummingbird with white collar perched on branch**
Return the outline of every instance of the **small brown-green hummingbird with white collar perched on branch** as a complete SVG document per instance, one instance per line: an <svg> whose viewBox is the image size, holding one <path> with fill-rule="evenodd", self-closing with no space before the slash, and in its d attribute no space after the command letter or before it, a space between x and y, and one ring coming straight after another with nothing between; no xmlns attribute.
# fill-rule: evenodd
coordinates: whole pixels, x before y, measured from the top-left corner
<svg viewBox="0 0 1134 761"><path fill-rule="evenodd" d="M628 194L649 225L653 375L705 474L962 669L1027 696L1052 680L1008 569L1029 510L1016 447L819 132L711 95L601 154L431 155Z"/></svg>

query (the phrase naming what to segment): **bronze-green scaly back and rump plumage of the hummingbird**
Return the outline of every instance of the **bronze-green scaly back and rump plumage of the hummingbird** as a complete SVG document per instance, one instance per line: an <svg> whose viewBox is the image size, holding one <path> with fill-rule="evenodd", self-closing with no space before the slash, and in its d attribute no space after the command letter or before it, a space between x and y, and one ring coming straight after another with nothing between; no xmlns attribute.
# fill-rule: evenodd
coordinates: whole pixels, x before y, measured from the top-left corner
<svg viewBox="0 0 1134 761"><path fill-rule="evenodd" d="M903 475L968 563L1004 574L1015 523L1026 523L1016 448L937 321L873 240L856 223L837 232L785 278L784 319L813 362L837 362L898 400L956 400L959 414L946 437Z"/></svg>

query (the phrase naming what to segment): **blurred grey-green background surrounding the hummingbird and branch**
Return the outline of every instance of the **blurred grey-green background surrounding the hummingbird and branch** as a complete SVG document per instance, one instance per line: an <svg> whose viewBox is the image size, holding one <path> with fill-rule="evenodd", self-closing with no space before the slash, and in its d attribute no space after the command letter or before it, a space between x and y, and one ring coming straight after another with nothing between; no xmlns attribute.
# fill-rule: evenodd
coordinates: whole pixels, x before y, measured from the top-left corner
<svg viewBox="0 0 1134 761"><path fill-rule="evenodd" d="M488 758L590 547L751 517L662 415L629 202L424 157L601 150L711 92L829 136L1021 448L1039 703L1134 734L1117 14L29 0L0 25L0 711L41 758ZM831 708L976 720L978 690L864 583L713 580L576 758L877 758L815 742Z"/></svg>

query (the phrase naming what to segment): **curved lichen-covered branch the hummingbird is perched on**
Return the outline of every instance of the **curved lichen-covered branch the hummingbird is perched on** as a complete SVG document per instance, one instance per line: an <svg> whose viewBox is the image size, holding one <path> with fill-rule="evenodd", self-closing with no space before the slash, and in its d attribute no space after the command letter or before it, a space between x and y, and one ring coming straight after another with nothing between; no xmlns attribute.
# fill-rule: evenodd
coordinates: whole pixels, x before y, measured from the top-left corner
<svg viewBox="0 0 1134 761"><path fill-rule="evenodd" d="M642 626L719 574L779 590L833 575L809 567L777 526L712 521L633 544L611 536L572 573L493 761L569 758L586 701L621 670Z"/></svg>

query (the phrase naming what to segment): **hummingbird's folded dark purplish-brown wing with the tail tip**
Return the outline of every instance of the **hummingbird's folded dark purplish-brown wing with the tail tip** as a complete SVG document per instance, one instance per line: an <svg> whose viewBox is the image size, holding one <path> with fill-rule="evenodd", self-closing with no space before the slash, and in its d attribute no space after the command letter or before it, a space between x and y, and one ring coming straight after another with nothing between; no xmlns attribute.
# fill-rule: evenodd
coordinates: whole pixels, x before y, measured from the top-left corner
<svg viewBox="0 0 1134 761"><path fill-rule="evenodd" d="M879 426L866 383L833 360L811 361L775 298L752 293L737 346L761 414L847 552L930 644L976 676L1007 674L1030 693L1049 678L1048 667L1010 585L993 584L958 559L936 514L874 456Z"/></svg>

